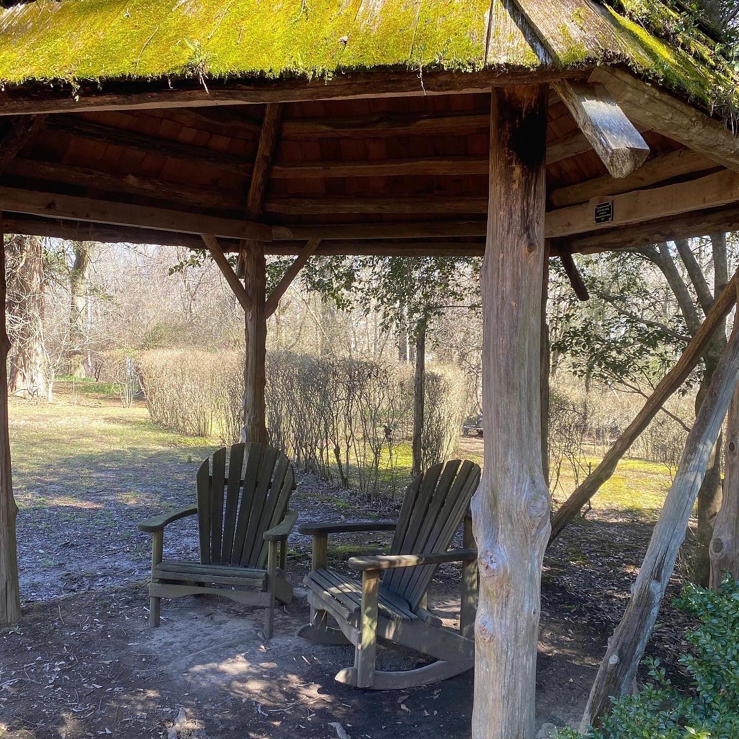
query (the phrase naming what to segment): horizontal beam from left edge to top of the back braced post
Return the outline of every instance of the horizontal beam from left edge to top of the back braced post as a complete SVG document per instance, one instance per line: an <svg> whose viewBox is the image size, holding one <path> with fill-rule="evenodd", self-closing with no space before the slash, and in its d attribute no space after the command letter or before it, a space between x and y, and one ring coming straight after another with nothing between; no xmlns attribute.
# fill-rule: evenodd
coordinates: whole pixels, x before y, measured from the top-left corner
<svg viewBox="0 0 739 739"><path fill-rule="evenodd" d="M109 225L140 226L156 231L214 234L236 239L270 241L272 228L247 220L205 216L166 208L0 187L0 210L55 219L71 219Z"/></svg>

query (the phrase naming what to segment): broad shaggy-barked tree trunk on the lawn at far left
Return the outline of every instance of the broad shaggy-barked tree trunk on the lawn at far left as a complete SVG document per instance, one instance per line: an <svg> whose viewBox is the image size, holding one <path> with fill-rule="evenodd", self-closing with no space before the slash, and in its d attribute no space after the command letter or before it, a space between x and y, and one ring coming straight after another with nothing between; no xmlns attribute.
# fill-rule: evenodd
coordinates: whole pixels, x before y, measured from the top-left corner
<svg viewBox="0 0 739 739"><path fill-rule="evenodd" d="M8 390L22 398L47 395L44 356L44 245L37 236L13 236L8 265L7 333L10 334ZM10 251L10 250L9 250Z"/></svg>

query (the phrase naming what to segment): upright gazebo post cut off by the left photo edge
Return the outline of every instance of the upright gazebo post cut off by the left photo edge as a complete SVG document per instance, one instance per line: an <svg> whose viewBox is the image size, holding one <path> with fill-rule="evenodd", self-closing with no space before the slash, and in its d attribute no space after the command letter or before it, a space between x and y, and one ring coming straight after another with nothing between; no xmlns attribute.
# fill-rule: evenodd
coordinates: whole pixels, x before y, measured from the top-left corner
<svg viewBox="0 0 739 739"><path fill-rule="evenodd" d="M0 239L2 234L0 234ZM10 440L7 422L7 352L5 331L5 250L0 251L0 624L21 619L21 596L18 586L16 554L16 516L18 506L13 497L10 471Z"/></svg>

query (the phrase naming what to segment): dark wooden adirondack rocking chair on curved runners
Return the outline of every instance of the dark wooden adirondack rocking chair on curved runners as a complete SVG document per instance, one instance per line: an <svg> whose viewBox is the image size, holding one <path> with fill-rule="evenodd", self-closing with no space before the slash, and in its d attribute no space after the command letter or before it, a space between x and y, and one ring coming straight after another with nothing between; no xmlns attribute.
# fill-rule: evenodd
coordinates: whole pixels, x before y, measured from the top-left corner
<svg viewBox="0 0 739 739"><path fill-rule="evenodd" d="M321 644L355 646L354 667L336 680L358 687L408 688L433 683L474 665L474 614L477 607L477 551L471 521L465 517L480 482L480 466L454 460L420 474L406 490L397 522L320 522L299 527L313 535L313 568L304 579L310 602L310 624L299 636ZM465 548L447 551L465 520ZM352 557L349 567L361 571L361 585L326 568L328 534L340 531L395 531L391 554ZM462 562L460 633L443 627L426 610L426 589L441 562ZM338 629L327 625L333 616ZM403 672L375 670L375 648L381 637L435 662Z"/></svg>

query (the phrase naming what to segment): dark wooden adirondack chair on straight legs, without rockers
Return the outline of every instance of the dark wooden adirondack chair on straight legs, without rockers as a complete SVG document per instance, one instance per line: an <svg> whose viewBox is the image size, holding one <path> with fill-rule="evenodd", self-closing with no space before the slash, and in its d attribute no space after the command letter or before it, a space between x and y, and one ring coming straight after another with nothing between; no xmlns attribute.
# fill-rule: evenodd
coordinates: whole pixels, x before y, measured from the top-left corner
<svg viewBox="0 0 739 739"><path fill-rule="evenodd" d="M298 514L287 510L295 473L285 454L261 443L234 444L213 454L197 471L197 505L140 522L150 531L151 626L159 625L162 598L215 593L245 605L262 605L265 637L272 636L275 599L287 604L293 588L285 579L287 536ZM225 498L225 506L224 506ZM166 525L197 513L200 562L163 559ZM279 567L277 544L280 543ZM266 568L265 568L266 567Z"/></svg>

